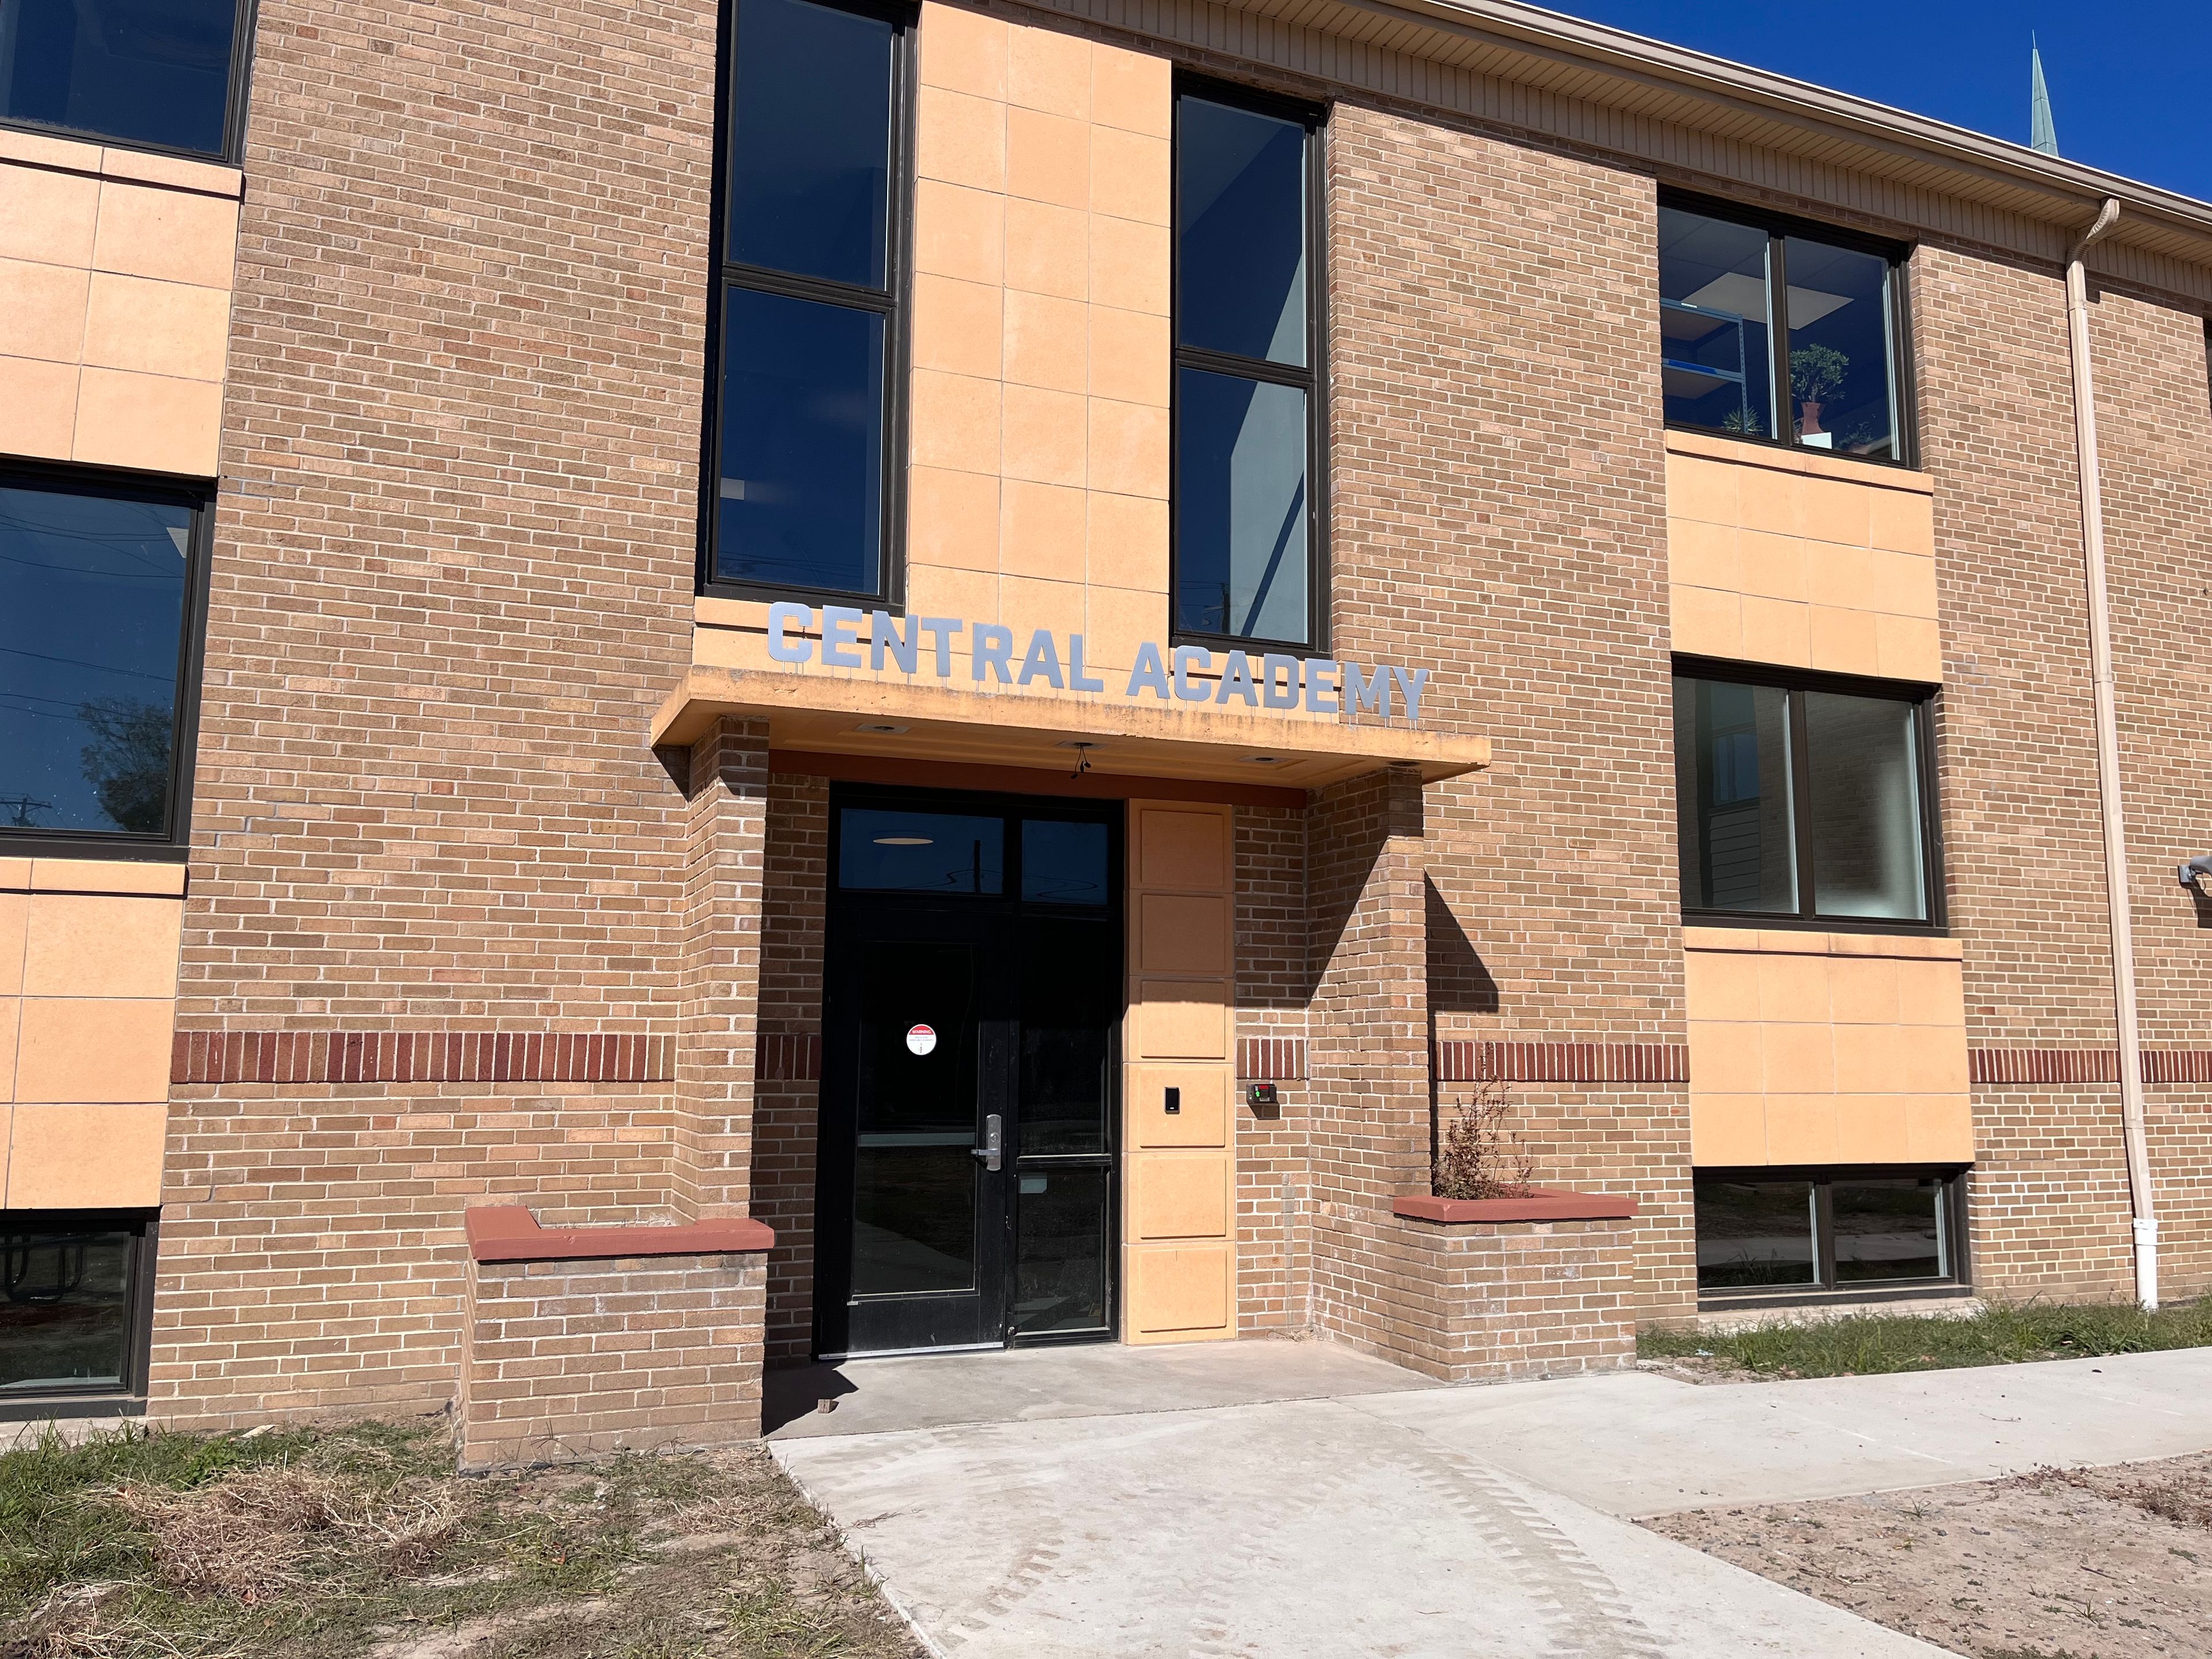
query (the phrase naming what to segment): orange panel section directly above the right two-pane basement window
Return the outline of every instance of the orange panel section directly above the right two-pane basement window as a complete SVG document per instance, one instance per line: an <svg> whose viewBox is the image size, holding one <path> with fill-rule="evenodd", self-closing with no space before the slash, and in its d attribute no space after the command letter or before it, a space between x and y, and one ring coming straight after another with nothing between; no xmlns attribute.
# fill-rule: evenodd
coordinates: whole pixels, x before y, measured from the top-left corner
<svg viewBox="0 0 2212 1659"><path fill-rule="evenodd" d="M1958 940L1683 929L1690 1155L1971 1164Z"/></svg>

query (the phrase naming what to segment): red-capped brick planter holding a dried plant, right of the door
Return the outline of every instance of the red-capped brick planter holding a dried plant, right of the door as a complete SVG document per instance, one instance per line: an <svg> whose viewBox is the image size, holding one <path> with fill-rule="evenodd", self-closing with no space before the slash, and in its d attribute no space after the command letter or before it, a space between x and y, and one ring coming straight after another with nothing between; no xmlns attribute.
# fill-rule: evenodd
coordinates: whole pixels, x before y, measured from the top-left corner
<svg viewBox="0 0 2212 1659"><path fill-rule="evenodd" d="M1635 1212L1635 1199L1553 1188L1394 1199L1394 1254L1425 1292L1394 1358L1447 1383L1632 1367Z"/></svg>

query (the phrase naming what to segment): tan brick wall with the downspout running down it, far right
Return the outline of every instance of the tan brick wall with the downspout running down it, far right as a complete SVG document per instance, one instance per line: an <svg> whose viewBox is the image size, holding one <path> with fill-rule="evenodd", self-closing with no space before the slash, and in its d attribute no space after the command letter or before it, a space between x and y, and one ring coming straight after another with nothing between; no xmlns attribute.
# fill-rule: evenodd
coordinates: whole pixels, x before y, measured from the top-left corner
<svg viewBox="0 0 2212 1659"><path fill-rule="evenodd" d="M2212 1046L2208 953L2172 865L2203 852L2197 646L2208 480L2203 321L2093 283L2130 887L2146 1046ZM1951 931L1966 1037L2115 1042L2088 686L2088 597L2057 270L1927 246L1913 261L1924 465L1936 478L1947 686L1938 710ZM2208 841L2212 845L2212 841ZM2148 1091L2166 1294L2212 1285L2197 1086ZM1975 1279L2130 1294L2117 1086L1975 1097Z"/></svg>

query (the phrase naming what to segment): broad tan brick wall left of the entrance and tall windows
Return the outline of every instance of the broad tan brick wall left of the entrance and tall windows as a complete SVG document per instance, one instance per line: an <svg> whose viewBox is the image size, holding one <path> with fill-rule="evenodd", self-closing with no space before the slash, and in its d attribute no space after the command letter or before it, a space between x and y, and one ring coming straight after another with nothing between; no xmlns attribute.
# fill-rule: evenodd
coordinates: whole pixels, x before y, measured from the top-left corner
<svg viewBox="0 0 2212 1659"><path fill-rule="evenodd" d="M677 1033L714 29L261 7L179 1029ZM462 1208L670 1219L672 1108L175 1088L155 1411L449 1400Z"/></svg>

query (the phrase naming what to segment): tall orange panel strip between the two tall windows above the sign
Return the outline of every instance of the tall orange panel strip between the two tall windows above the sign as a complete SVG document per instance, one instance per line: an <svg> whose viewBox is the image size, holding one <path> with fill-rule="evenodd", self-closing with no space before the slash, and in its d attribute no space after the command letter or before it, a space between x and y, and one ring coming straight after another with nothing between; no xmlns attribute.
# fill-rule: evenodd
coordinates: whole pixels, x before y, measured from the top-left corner
<svg viewBox="0 0 2212 1659"><path fill-rule="evenodd" d="M1168 635L1172 119L1166 58L922 7L909 602L1124 672Z"/></svg>

